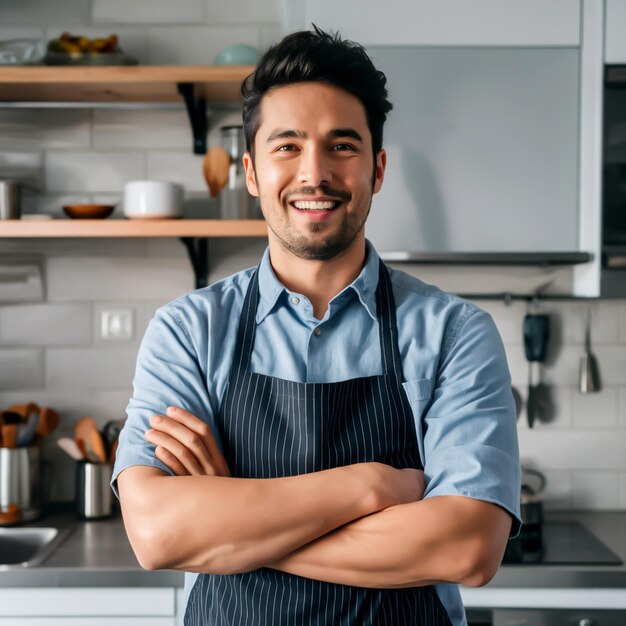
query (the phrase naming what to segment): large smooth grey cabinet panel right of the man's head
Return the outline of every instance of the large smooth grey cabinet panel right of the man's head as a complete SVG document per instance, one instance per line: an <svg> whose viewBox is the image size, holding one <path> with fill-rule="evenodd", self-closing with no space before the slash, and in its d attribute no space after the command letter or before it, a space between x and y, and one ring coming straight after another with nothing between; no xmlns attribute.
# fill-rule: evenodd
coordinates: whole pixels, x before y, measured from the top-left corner
<svg viewBox="0 0 626 626"><path fill-rule="evenodd" d="M576 48L368 51L394 105L379 252L578 249Z"/></svg>

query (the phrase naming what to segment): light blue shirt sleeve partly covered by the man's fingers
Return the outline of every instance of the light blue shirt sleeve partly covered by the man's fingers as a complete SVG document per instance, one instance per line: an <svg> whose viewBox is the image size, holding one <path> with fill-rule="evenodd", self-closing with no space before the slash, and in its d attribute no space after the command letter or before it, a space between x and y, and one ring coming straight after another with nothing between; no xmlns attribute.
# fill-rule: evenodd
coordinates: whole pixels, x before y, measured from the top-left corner
<svg viewBox="0 0 626 626"><path fill-rule="evenodd" d="M176 310L162 308L150 321L137 356L133 395L126 409L127 419L120 433L111 480L118 497L117 477L128 467L148 465L172 474L156 458L155 446L144 438L150 418L164 415L168 406L186 409L214 426L206 376L189 331Z"/></svg>

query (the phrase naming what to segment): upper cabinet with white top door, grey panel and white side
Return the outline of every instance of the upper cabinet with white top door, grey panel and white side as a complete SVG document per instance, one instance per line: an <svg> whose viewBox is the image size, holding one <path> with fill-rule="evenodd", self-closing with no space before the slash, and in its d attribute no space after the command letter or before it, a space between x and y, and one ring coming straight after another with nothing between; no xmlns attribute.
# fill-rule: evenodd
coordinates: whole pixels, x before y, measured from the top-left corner
<svg viewBox="0 0 626 626"><path fill-rule="evenodd" d="M599 295L603 3L367 4L309 0L306 19L364 44L388 78L368 237L388 258L580 255L570 291Z"/></svg>

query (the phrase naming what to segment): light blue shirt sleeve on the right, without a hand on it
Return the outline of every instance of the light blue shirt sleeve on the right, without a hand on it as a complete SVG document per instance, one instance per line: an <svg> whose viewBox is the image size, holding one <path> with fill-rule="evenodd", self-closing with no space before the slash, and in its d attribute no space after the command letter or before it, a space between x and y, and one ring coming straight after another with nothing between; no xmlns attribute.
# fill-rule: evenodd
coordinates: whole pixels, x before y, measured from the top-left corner
<svg viewBox="0 0 626 626"><path fill-rule="evenodd" d="M443 347L423 415L424 497L458 495L498 504L521 526L515 403L492 318L467 309Z"/></svg>

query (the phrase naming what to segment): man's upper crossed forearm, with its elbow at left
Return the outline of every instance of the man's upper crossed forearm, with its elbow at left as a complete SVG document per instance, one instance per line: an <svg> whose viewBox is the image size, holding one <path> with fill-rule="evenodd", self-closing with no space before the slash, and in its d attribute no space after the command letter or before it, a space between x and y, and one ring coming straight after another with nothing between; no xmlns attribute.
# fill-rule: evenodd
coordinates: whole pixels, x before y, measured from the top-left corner
<svg viewBox="0 0 626 626"><path fill-rule="evenodd" d="M132 467L118 485L127 534L144 567L234 573L388 506L367 465L264 480Z"/></svg>

